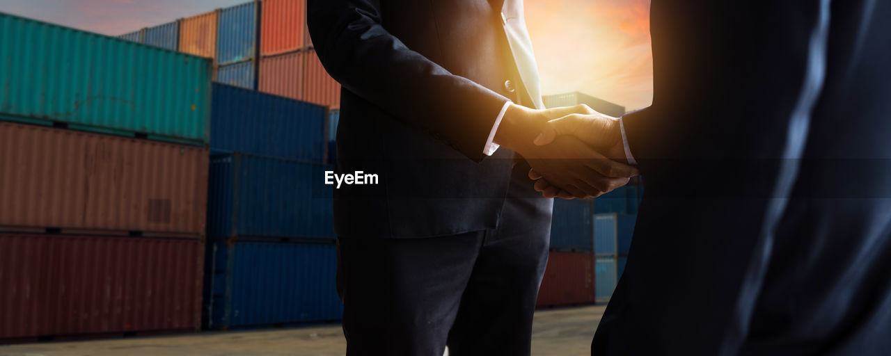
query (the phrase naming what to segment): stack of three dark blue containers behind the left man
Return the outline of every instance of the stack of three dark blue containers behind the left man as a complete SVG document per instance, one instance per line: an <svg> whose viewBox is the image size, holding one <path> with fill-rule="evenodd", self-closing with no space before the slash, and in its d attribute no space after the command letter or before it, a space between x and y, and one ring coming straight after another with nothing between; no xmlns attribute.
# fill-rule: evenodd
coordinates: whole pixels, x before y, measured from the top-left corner
<svg viewBox="0 0 891 356"><path fill-rule="evenodd" d="M339 320L326 109L215 84L204 326Z"/></svg>

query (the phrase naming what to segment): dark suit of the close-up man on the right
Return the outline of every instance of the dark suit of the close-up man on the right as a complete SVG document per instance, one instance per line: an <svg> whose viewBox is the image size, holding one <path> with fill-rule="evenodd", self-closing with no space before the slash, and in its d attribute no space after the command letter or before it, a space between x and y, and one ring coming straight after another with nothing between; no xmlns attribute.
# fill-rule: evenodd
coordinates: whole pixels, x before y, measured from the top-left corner
<svg viewBox="0 0 891 356"><path fill-rule="evenodd" d="M592 354L891 354L891 3L654 0Z"/></svg>

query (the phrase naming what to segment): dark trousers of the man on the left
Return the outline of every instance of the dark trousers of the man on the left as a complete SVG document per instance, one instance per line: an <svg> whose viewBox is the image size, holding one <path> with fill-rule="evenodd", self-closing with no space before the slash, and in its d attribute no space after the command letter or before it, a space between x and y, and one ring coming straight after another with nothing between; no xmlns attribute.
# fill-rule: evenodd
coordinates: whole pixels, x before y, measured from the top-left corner
<svg viewBox="0 0 891 356"><path fill-rule="evenodd" d="M550 208L508 198L492 231L339 239L347 356L528 355Z"/></svg>

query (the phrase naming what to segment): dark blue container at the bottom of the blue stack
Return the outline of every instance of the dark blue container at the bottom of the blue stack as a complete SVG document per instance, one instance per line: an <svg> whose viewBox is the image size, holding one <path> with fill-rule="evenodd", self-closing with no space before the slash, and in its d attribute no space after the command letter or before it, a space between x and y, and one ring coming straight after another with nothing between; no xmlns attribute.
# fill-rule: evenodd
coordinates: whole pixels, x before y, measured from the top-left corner
<svg viewBox="0 0 891 356"><path fill-rule="evenodd" d="M340 320L333 240L208 243L204 326L245 328Z"/></svg>

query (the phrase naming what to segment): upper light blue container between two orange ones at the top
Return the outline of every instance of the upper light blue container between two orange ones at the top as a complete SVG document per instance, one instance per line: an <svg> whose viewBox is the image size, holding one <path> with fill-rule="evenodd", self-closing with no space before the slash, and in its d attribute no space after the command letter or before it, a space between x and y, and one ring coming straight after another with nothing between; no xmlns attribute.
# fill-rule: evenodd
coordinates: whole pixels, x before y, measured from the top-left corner
<svg viewBox="0 0 891 356"><path fill-rule="evenodd" d="M258 4L240 4L220 11L217 63L229 64L257 58Z"/></svg>

